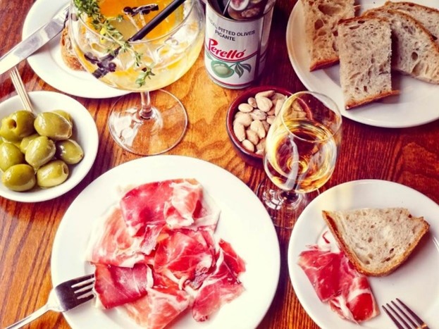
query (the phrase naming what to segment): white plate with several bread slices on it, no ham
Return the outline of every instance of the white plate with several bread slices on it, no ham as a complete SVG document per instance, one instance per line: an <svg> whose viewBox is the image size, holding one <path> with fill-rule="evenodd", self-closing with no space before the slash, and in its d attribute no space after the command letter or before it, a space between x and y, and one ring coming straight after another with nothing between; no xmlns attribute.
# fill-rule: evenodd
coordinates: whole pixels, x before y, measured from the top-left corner
<svg viewBox="0 0 439 329"><path fill-rule="evenodd" d="M287 51L309 90L345 118L383 128L439 119L439 5L433 1L299 0Z"/></svg>

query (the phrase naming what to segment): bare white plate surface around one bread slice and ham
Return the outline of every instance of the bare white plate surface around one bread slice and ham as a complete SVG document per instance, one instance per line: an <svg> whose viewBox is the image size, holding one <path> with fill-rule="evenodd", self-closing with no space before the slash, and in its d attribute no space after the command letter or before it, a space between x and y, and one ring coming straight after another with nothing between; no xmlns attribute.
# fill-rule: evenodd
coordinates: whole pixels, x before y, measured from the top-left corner
<svg viewBox="0 0 439 329"><path fill-rule="evenodd" d="M297 265L299 254L308 244L316 244L327 226L321 211L357 209L363 207L405 207L414 216L423 216L430 223L430 232L423 237L413 254L390 275L369 277L381 314L356 325L342 320L320 302L304 271ZM299 216L292 230L288 247L288 268L297 298L314 322L323 329L393 328L392 321L381 305L399 297L424 321L438 324L439 309L439 205L410 187L385 180L357 180L335 186L316 197Z"/></svg>

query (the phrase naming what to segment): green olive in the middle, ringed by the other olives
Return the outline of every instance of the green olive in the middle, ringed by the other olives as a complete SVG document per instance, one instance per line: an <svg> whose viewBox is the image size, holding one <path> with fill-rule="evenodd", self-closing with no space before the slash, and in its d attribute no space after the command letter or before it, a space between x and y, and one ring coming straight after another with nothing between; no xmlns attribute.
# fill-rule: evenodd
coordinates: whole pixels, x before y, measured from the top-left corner
<svg viewBox="0 0 439 329"><path fill-rule="evenodd" d="M55 155L55 142L46 136L39 136L27 145L25 160L30 166L38 169L48 163Z"/></svg>

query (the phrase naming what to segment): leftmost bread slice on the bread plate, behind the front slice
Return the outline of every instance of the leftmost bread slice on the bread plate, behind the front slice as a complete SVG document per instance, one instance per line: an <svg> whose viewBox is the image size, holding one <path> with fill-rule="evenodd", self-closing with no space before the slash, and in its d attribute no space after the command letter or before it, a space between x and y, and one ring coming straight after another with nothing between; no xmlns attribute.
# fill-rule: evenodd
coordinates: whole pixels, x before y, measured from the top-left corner
<svg viewBox="0 0 439 329"><path fill-rule="evenodd" d="M305 38L311 58L309 70L338 63L337 23L354 17L354 0L302 0Z"/></svg>

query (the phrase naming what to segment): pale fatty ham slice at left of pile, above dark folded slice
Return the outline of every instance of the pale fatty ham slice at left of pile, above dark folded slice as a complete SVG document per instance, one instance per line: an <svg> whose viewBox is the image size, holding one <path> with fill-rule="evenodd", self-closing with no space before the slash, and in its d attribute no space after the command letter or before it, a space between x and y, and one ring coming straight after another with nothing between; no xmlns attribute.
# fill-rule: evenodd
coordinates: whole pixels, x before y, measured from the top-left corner
<svg viewBox="0 0 439 329"><path fill-rule="evenodd" d="M132 267L135 263L151 263L142 252L143 237L128 234L127 225L118 207L99 218L92 230L86 260L114 266Z"/></svg>

